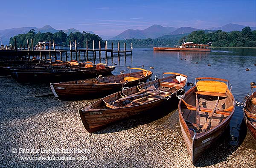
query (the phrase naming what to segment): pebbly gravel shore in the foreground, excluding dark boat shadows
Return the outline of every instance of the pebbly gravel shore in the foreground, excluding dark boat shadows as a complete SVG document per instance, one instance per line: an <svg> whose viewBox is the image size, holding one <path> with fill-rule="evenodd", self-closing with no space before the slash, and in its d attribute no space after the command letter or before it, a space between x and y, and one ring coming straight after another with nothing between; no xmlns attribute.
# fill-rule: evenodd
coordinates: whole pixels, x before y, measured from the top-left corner
<svg viewBox="0 0 256 168"><path fill-rule="evenodd" d="M49 84L0 78L0 167L195 167L177 109L144 113L89 134L78 109L96 100L35 97L50 91ZM256 167L256 141L250 132L239 146L230 146L229 138L229 133L221 137L196 166Z"/></svg>

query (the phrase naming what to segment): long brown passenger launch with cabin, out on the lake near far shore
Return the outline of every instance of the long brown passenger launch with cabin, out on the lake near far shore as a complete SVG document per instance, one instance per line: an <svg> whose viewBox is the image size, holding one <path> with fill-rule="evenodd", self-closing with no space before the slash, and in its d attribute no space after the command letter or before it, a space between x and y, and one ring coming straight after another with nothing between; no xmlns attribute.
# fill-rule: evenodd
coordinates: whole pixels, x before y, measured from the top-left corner
<svg viewBox="0 0 256 168"><path fill-rule="evenodd" d="M209 45L186 42L177 47L154 47L154 51L211 51L211 49Z"/></svg>

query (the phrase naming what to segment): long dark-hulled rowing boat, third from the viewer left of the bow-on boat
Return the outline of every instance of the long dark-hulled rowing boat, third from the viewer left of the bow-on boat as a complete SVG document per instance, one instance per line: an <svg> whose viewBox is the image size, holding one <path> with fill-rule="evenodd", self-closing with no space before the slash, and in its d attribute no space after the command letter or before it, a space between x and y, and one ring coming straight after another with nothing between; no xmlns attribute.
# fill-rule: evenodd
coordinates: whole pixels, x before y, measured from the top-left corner
<svg viewBox="0 0 256 168"><path fill-rule="evenodd" d="M61 70L23 70L13 72L12 77L20 82L61 82L72 81L83 78L93 78L99 75L111 74L116 67L106 64L92 65L92 67L79 67Z"/></svg>

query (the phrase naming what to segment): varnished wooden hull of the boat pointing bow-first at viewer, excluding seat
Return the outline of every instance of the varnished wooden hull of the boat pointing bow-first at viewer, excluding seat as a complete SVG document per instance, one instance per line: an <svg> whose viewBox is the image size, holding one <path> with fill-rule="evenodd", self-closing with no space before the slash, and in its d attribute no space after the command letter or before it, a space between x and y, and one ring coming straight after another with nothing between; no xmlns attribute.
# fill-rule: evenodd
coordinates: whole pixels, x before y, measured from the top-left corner
<svg viewBox="0 0 256 168"><path fill-rule="evenodd" d="M207 119L205 117L208 116L209 113L208 114L206 112L200 113L201 128L200 128L200 131L198 130L198 132L195 134L192 129L195 128L194 130L196 130L196 127L191 126L193 123L190 122L190 120L188 120L188 118L191 117L191 118L194 118L192 120L195 120L196 116L192 117L192 115L191 116L186 115L186 117L185 117L185 113L187 113L189 109L185 109L183 107L185 105L183 103L183 101L185 101L187 104L193 104L195 102L194 97L196 95L195 94L196 91L197 91L196 86L189 89L183 95L183 97L180 99L180 102L178 105L179 123L180 123L181 133L183 135L183 139L186 144L188 153L191 156L192 164L195 164L196 160L198 160L198 158L201 156L201 154L203 154L204 151L207 148L209 148L212 145L212 143L214 143L216 140L218 140L218 138L223 134L223 132L229 126L230 120L231 120L234 110L235 110L235 98L234 98L233 94L230 92L230 90L227 90L227 98L225 98L226 100L222 99L219 104L222 104L222 105L226 104L227 107L229 107L229 106L232 107L231 109L229 109L229 112L223 112L223 114L229 114L229 115L224 116L223 119L220 119L221 121L217 126L210 125L211 129L207 130L206 132L202 132L201 129L204 126L204 123L206 122L206 119ZM211 110L203 107L203 106L205 106L205 104L204 103L203 103L203 105L201 104L200 112L207 111L207 110L211 111ZM217 109L219 110L219 108L220 108L220 106L218 106ZM195 113L195 110L191 110L190 112ZM221 112L222 111L220 111L220 113ZM218 114L218 115L220 115L220 114ZM186 120L184 118L186 118ZM212 118L218 118L217 114L213 115ZM204 120L204 121L202 122L202 120ZM190 126L189 126L189 124L190 124ZM195 137L194 137L194 135L195 135Z"/></svg>

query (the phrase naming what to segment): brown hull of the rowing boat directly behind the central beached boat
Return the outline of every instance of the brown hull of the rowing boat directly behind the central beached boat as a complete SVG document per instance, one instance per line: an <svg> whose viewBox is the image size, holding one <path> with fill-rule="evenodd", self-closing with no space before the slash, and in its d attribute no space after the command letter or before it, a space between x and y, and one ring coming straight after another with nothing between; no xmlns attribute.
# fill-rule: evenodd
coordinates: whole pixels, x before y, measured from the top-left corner
<svg viewBox="0 0 256 168"><path fill-rule="evenodd" d="M86 81L70 81L70 82L61 82L61 83L54 83L50 84L52 92L54 93L56 98L59 98L61 100L63 99L78 99L78 98L99 98L104 97L106 95L109 95L114 92L118 92L122 90L123 87L133 87L139 84L140 82L146 82L148 78L152 76L152 72L148 71L147 76L143 76L143 72L137 72L137 73L127 73L123 75L117 75L117 76L110 76L109 78L117 78L117 79L124 79L126 76L129 77L138 77L137 80L134 81L128 81L124 82L116 82L116 83L102 83L102 84L82 84L83 82L86 83L86 81L89 81L90 79ZM139 78L140 77L140 78ZM107 76L105 77L108 78ZM91 79L90 81L96 81L96 79ZM113 80L114 82L114 80ZM77 83L77 84L76 84Z"/></svg>

